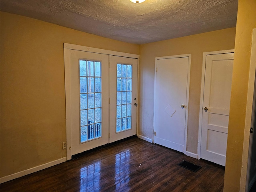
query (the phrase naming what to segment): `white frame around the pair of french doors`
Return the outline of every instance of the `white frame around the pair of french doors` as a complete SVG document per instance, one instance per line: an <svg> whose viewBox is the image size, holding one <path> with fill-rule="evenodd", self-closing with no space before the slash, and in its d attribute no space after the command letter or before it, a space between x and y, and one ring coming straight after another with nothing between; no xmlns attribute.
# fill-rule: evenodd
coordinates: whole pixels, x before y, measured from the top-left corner
<svg viewBox="0 0 256 192"><path fill-rule="evenodd" d="M71 98L70 98L70 54L68 50L79 50L84 52L93 52L99 54L106 54L106 55L114 55L114 56L122 56L128 58L135 58L138 59L138 66L139 68L139 55L130 54L130 53L123 53L111 50L104 50L80 45L74 45L69 43L64 43L64 69L65 69L65 101L66 101L66 160L70 160L72 157L71 153ZM139 76L137 74L137 85L138 85ZM137 86L137 93L138 93L138 86ZM110 98L110 95L108 96ZM138 98L138 97L137 97ZM136 108L137 112L137 119L138 119L138 108ZM109 130L108 130L109 131ZM138 121L136 122L136 132L138 135Z"/></svg>

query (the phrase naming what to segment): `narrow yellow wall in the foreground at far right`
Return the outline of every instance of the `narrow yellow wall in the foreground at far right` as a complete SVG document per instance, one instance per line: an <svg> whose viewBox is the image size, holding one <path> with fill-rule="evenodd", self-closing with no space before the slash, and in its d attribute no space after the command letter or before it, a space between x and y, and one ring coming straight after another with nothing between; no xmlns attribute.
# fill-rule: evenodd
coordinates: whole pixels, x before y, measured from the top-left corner
<svg viewBox="0 0 256 192"><path fill-rule="evenodd" d="M240 190L253 28L256 28L256 1L239 0L224 177L224 191L226 192ZM250 131L250 127L246 129Z"/></svg>

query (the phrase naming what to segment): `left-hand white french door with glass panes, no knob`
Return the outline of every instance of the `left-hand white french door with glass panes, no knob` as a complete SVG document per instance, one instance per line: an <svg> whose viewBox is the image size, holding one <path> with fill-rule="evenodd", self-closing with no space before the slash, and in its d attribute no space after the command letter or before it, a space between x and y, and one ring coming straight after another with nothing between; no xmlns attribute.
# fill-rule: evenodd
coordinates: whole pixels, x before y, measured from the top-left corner
<svg viewBox="0 0 256 192"><path fill-rule="evenodd" d="M71 155L108 143L108 55L69 50ZM65 55L67 56L67 55ZM66 67L66 66L65 66ZM67 96L67 93L66 93Z"/></svg>

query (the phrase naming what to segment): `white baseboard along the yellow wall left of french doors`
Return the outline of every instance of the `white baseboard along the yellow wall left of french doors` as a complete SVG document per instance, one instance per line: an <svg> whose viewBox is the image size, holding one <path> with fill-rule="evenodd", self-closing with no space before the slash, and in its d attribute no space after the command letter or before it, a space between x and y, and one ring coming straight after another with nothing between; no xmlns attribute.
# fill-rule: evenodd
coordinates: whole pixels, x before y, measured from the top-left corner
<svg viewBox="0 0 256 192"><path fill-rule="evenodd" d="M30 169L27 169L27 170L24 170L24 171L20 171L18 173L14 173L14 174L11 174L11 175L8 175L8 176L4 176L4 177L0 178L0 183L4 183L4 182L10 181L10 180L22 177L24 175L28 175L30 173L34 173L34 172L40 171L42 169L45 169L45 168L48 168L48 167L51 167L51 166L63 163L66 160L67 160L67 158L63 157L63 158L57 159L55 161L48 162L46 164L42 164L42 165L39 165L39 166L30 168Z"/></svg>

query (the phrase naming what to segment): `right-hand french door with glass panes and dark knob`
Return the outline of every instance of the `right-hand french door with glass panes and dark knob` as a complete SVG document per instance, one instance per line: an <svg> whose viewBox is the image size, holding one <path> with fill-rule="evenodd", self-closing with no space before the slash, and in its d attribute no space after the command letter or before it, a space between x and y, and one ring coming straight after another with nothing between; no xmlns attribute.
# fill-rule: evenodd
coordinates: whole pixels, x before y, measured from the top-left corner
<svg viewBox="0 0 256 192"><path fill-rule="evenodd" d="M110 142L136 135L137 64L110 56Z"/></svg>

